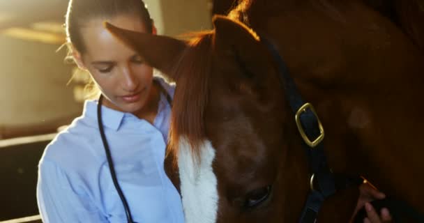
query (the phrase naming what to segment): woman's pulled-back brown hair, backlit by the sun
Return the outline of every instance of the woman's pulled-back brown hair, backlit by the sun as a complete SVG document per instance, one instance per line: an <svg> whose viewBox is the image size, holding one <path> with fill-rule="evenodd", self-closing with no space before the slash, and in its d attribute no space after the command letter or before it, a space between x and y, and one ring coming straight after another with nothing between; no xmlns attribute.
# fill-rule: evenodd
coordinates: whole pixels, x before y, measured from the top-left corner
<svg viewBox="0 0 424 223"><path fill-rule="evenodd" d="M83 54L86 50L81 29L89 20L131 14L139 17L146 31L153 29L149 11L142 0L70 0L66 13L66 41Z"/></svg>

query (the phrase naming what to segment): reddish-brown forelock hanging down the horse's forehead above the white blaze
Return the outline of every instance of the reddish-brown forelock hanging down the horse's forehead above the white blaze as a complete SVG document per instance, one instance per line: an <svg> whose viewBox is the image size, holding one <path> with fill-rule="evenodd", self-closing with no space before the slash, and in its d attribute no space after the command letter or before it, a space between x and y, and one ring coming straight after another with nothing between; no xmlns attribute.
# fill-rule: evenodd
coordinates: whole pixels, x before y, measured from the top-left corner
<svg viewBox="0 0 424 223"><path fill-rule="evenodd" d="M205 139L204 111L208 102L209 76L213 32L190 33L188 45L174 68L176 91L172 107L169 148L167 153L178 154L180 137L191 146L194 157Z"/></svg>

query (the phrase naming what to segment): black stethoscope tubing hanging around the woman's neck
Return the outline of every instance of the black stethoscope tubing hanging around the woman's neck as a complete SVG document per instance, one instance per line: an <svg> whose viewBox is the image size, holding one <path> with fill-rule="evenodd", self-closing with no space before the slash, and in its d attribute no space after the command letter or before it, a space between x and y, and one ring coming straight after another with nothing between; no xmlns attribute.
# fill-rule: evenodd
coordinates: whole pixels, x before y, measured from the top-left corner
<svg viewBox="0 0 424 223"><path fill-rule="evenodd" d="M167 98L167 102L169 103L169 106L172 107L172 98L171 96L165 91L165 89L162 88L162 85L158 84L159 89L162 93L165 94ZM132 220L132 215L130 211L130 206L128 206L128 202L123 195L123 192L121 190L121 187L119 186L118 180L116 179L116 172L114 168L114 162L112 160L112 155L110 154L109 144L107 144L105 130L103 129L103 121L102 121L102 101L103 101L103 94L100 94L100 98L98 99L97 104L97 119L98 119L98 129L100 130L100 137L102 137L103 146L105 147L106 157L107 157L107 164L109 164L109 171L110 175L112 176L112 181L114 183L116 192L119 194L119 198L122 201L123 209L125 210L126 217L128 223L137 223Z"/></svg>

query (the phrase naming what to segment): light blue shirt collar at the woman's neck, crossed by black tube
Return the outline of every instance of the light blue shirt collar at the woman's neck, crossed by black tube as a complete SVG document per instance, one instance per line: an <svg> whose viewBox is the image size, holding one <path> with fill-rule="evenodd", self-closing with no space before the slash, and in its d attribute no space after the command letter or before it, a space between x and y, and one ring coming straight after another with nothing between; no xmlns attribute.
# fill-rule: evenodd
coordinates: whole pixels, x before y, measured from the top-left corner
<svg viewBox="0 0 424 223"><path fill-rule="evenodd" d="M84 102L84 112L82 113L83 116L89 116L93 118L93 120L96 120L96 123L98 121L97 105L98 100L86 100ZM103 125L105 125L107 128L110 128L115 131L118 130L121 126L124 115L124 112L109 109L108 107L102 105L102 121Z"/></svg>

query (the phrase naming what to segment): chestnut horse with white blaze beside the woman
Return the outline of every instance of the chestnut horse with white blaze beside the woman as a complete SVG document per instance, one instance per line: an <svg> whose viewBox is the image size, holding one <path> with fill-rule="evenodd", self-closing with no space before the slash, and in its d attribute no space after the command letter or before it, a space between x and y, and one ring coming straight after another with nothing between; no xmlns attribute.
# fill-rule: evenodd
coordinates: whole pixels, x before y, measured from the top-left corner
<svg viewBox="0 0 424 223"><path fill-rule="evenodd" d="M301 215L308 159L262 37L315 105L332 171L363 176L424 213L423 10L420 1L390 1L390 10L387 2L243 1L186 41L107 24L176 81L165 167L186 222ZM357 188L338 191L318 222L349 222L357 198Z"/></svg>

